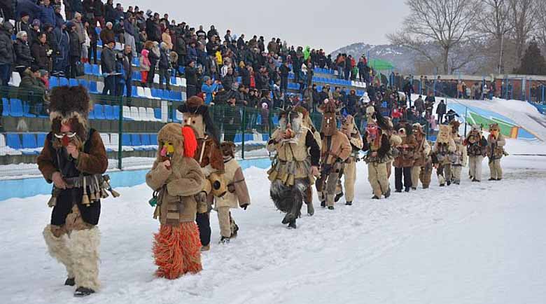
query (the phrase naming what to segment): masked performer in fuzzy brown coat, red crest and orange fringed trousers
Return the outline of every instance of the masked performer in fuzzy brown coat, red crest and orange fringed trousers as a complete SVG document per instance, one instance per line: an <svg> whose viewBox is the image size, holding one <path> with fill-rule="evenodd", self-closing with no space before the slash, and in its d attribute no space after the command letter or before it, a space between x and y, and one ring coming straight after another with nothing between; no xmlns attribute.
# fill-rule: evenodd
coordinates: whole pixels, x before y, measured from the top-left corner
<svg viewBox="0 0 546 304"><path fill-rule="evenodd" d="M146 174L146 184L158 192L154 218L161 223L153 242L155 275L176 279L202 270L195 195L205 179L193 159L197 140L190 127L169 123L160 130L158 141L158 158Z"/></svg>

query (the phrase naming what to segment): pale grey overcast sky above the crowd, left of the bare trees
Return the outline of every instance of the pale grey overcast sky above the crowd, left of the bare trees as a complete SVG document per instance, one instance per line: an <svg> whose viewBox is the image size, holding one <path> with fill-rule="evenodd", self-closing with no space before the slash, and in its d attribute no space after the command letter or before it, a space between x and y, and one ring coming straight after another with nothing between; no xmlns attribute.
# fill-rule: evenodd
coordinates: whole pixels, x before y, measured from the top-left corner
<svg viewBox="0 0 546 304"><path fill-rule="evenodd" d="M356 42L387 43L409 12L402 0L122 0L123 8L150 8L161 15L169 13L176 22L214 25L223 37L226 29L246 38L254 34L286 40L288 45L323 48L330 53Z"/></svg>

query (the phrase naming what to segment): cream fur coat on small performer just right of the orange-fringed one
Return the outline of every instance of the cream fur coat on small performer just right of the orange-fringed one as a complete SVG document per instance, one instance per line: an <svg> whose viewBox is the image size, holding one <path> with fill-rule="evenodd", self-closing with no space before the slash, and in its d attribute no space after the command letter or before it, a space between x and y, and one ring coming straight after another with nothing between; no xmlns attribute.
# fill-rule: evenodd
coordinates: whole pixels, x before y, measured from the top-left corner
<svg viewBox="0 0 546 304"><path fill-rule="evenodd" d="M237 209L242 205L250 205L251 199L248 195L243 170L237 160L235 158L228 160L224 163L224 168L224 180L228 185L228 192L221 198L214 198L214 209L218 210L219 207Z"/></svg>

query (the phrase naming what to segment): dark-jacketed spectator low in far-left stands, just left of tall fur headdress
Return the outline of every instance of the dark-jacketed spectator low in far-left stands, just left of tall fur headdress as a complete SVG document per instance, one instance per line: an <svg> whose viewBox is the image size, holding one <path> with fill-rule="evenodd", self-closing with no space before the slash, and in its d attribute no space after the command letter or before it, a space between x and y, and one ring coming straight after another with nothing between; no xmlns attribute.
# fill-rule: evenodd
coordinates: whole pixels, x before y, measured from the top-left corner
<svg viewBox="0 0 546 304"><path fill-rule="evenodd" d="M40 114L41 109L37 108L37 104L43 102L45 96L45 85L40 80L40 71L33 65L25 69L22 74L18 98L30 102L30 113Z"/></svg>

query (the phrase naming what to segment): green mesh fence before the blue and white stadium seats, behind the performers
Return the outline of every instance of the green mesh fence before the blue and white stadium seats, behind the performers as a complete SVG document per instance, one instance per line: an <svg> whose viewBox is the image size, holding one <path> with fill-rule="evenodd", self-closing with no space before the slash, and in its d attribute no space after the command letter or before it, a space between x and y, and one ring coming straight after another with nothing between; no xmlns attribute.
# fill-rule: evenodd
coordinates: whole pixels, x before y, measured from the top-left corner
<svg viewBox="0 0 546 304"><path fill-rule="evenodd" d="M50 121L43 91L0 89L0 179L39 175L41 152ZM109 170L150 167L157 154L157 133L168 122L181 123L181 102L90 95L89 125L100 132L109 158ZM211 117L222 141L233 141L238 158L267 158L265 144L279 123L279 110L214 105ZM312 120L320 127L321 116Z"/></svg>

